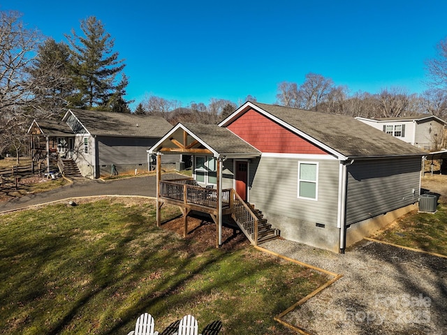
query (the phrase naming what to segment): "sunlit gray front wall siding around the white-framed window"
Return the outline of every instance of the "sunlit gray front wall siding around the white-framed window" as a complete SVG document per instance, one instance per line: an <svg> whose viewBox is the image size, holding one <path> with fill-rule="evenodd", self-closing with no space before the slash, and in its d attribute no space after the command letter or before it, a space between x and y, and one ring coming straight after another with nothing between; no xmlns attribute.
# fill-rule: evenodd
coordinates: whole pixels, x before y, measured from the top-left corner
<svg viewBox="0 0 447 335"><path fill-rule="evenodd" d="M337 226L339 162L318 162L318 201L298 198L298 158L261 157L250 164L249 202L266 213Z"/></svg>

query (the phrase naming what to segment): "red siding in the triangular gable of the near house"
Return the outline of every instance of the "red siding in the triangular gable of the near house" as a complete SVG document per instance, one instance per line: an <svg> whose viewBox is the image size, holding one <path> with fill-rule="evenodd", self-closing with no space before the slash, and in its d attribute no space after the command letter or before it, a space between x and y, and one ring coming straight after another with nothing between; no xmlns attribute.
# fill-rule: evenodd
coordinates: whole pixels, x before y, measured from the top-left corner
<svg viewBox="0 0 447 335"><path fill-rule="evenodd" d="M279 154L328 154L263 114L250 109L226 128L261 152Z"/></svg>

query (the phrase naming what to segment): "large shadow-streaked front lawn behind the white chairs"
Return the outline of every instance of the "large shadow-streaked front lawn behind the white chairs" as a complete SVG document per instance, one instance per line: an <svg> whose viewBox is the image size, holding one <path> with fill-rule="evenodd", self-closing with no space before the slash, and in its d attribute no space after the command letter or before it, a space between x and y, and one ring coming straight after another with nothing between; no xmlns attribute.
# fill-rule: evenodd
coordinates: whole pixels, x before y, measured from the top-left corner
<svg viewBox="0 0 447 335"><path fill-rule="evenodd" d="M295 334L274 315L327 281L252 247L194 253L154 202L119 201L0 216L0 334L127 334L143 312L160 332L191 313L200 332Z"/></svg>

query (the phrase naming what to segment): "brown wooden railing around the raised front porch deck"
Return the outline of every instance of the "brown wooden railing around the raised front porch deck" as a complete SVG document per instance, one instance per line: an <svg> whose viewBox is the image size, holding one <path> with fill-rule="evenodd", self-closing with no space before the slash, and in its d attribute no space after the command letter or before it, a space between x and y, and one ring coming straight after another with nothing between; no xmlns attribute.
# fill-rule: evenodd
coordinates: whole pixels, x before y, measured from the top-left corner
<svg viewBox="0 0 447 335"><path fill-rule="evenodd" d="M193 179L160 181L160 197L217 209L217 190L196 186ZM222 208L230 208L231 189L222 190Z"/></svg>

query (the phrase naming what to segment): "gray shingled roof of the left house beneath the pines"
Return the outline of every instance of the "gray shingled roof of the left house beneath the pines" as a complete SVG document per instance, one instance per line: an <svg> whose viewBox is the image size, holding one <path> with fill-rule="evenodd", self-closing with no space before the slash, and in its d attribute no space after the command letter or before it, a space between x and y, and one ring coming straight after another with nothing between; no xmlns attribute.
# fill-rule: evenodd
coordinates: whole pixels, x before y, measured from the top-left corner
<svg viewBox="0 0 447 335"><path fill-rule="evenodd" d="M70 110L91 135L163 137L173 128L162 117L91 110Z"/></svg>

